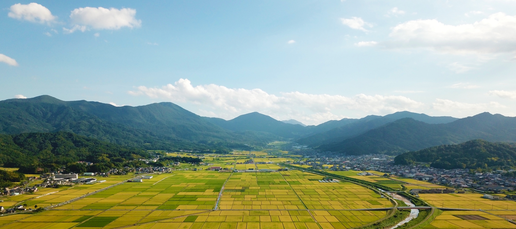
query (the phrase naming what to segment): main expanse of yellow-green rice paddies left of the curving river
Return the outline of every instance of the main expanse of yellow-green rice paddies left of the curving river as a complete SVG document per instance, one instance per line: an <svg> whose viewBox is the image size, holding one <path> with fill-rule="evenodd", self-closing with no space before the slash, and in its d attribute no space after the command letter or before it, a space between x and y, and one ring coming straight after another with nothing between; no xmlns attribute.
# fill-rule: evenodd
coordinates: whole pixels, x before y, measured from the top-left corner
<svg viewBox="0 0 516 229"><path fill-rule="evenodd" d="M36 215L0 217L0 229L341 229L386 216L386 211L349 209L392 206L372 190L347 182L319 183L322 178L301 171L174 171L153 175L141 183L123 183ZM114 176L110 182L118 181ZM36 201L38 205L62 202L98 188L101 186L80 185Z"/></svg>

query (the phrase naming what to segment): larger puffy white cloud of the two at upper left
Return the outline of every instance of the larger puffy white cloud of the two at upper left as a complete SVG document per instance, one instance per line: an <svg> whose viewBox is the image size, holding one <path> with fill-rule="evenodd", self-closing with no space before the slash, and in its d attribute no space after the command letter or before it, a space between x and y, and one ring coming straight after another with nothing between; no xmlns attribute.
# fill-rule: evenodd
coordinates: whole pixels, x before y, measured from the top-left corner
<svg viewBox="0 0 516 229"><path fill-rule="evenodd" d="M72 28L63 28L68 33L88 29L120 29L122 27L140 27L141 20L135 18L136 10L131 8L94 8L85 7L72 10L70 20Z"/></svg>

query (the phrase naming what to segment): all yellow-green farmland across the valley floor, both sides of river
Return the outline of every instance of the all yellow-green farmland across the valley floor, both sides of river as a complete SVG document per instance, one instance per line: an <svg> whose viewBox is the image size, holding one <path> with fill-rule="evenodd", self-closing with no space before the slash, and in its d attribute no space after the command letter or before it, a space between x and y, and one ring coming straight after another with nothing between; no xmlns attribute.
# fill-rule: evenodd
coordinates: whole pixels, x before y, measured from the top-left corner
<svg viewBox="0 0 516 229"><path fill-rule="evenodd" d="M385 193L351 181L359 179L396 190L443 187L410 178L383 177L375 171L367 171L374 173L368 176L358 175L361 171L331 171L354 179L320 182L328 177L301 170L276 171L284 169L279 163L302 158L275 150L197 156L205 165L182 163L175 167L178 170L150 174L152 178L143 182L125 182L136 176L128 173L102 177L106 180L103 183L42 188L4 197L4 206L53 206L34 215L2 216L0 229L374 228L374 223L393 216L395 211L390 209L396 203L383 198ZM209 167L226 168L227 172L211 171ZM516 228L507 221L516 219L516 202L481 196L469 192L421 193L421 200L434 209L463 210L436 210L434 219L420 220L420 228Z"/></svg>

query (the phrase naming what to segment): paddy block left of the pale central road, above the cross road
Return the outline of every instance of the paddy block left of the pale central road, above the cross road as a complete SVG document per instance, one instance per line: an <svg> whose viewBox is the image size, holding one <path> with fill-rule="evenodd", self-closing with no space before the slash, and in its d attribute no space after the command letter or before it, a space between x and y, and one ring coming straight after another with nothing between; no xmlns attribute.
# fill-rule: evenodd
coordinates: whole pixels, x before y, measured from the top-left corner
<svg viewBox="0 0 516 229"><path fill-rule="evenodd" d="M56 209L213 209L230 173L175 171L124 183Z"/></svg>

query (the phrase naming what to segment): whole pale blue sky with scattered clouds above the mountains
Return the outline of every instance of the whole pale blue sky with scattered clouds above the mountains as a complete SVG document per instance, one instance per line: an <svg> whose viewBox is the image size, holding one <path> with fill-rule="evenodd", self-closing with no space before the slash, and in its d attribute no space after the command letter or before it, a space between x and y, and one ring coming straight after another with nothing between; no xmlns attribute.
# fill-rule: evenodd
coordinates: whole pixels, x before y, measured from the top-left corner
<svg viewBox="0 0 516 229"><path fill-rule="evenodd" d="M516 1L2 1L0 100L516 116Z"/></svg>

